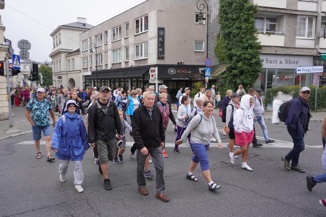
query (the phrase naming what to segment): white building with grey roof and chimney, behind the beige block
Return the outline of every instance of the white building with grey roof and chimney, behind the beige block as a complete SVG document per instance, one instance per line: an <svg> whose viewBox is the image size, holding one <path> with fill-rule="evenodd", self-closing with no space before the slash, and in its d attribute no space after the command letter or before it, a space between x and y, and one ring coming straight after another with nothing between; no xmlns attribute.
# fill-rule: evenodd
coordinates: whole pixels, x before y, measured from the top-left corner
<svg viewBox="0 0 326 217"><path fill-rule="evenodd" d="M85 18L78 17L77 22L58 26L50 34L53 49L49 56L53 62L54 86L69 86L80 82L80 57L76 54L79 35L91 27L93 26L87 24Z"/></svg>

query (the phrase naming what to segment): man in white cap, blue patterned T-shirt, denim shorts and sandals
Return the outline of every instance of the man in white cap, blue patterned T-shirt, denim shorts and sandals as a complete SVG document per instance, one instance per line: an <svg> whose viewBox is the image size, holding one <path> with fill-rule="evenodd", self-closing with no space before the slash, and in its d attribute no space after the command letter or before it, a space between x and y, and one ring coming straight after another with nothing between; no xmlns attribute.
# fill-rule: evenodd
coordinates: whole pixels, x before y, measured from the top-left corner
<svg viewBox="0 0 326 217"><path fill-rule="evenodd" d="M31 116L30 116L31 113ZM50 100L45 98L45 89L39 87L36 90L36 98L29 101L25 116L29 123L32 125L33 139L36 146L37 155L36 158L42 158L42 153L40 151L40 139L41 131L45 138L45 143L47 147L47 160L53 161L55 158L51 155L51 123L50 115L53 120L53 127L55 126L55 115L52 104Z"/></svg>

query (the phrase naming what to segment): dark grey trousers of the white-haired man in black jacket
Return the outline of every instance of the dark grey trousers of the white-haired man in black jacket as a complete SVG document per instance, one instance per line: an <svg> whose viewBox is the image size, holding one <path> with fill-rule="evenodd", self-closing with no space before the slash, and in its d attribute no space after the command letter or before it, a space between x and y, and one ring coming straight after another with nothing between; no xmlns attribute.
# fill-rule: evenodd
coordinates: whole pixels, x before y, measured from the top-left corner
<svg viewBox="0 0 326 217"><path fill-rule="evenodd" d="M156 171L156 190L158 193L164 193L165 184L163 177L164 161L162 156L162 148L148 149L148 153L152 156L153 163ZM140 150L137 150L137 184L138 188L144 189L146 186L145 176L143 173L145 160L147 156L141 154Z"/></svg>

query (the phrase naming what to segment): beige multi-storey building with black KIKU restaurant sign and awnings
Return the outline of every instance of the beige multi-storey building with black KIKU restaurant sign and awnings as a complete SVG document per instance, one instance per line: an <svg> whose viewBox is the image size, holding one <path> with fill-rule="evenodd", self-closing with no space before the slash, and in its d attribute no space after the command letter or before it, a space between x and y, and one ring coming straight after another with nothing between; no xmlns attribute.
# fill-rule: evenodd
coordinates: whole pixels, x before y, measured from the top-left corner
<svg viewBox="0 0 326 217"><path fill-rule="evenodd" d="M164 83L174 94L201 80L207 30L196 2L147 0L81 33L83 86Z"/></svg>

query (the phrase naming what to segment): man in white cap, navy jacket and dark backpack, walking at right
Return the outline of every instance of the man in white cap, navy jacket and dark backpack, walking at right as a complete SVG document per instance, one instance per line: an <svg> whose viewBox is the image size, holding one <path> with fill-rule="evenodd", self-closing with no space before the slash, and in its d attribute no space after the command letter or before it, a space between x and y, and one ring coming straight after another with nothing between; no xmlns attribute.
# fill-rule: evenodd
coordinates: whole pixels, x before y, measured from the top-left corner
<svg viewBox="0 0 326 217"><path fill-rule="evenodd" d="M305 170L299 166L300 152L304 150L304 134L309 130L309 120L311 117L307 100L310 97L310 88L302 87L299 96L293 99L287 110L285 125L293 139L293 149L282 157L283 165L287 170L297 170L304 173ZM290 166L290 161L292 161Z"/></svg>

